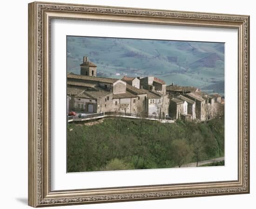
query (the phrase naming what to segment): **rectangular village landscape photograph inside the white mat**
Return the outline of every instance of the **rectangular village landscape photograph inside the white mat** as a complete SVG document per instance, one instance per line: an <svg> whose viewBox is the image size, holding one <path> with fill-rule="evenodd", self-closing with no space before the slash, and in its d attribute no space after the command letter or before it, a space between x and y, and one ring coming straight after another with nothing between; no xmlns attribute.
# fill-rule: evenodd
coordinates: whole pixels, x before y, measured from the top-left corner
<svg viewBox="0 0 256 209"><path fill-rule="evenodd" d="M67 173L225 165L225 43L67 35L66 49Z"/></svg>

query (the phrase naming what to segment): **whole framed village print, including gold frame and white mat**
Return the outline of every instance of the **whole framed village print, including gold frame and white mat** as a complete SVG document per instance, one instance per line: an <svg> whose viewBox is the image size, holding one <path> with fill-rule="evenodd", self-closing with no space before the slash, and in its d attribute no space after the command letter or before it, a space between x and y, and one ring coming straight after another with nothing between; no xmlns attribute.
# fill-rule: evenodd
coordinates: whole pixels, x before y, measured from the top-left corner
<svg viewBox="0 0 256 209"><path fill-rule="evenodd" d="M249 16L33 2L33 207L249 193Z"/></svg>

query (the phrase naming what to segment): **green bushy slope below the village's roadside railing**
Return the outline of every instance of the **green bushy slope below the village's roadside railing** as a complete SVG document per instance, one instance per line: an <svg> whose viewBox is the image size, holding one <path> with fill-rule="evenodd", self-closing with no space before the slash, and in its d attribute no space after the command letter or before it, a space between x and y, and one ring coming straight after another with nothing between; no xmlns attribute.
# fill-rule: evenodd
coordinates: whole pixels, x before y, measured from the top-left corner
<svg viewBox="0 0 256 209"><path fill-rule="evenodd" d="M223 156L221 118L173 124L105 118L67 127L67 172L171 168Z"/></svg>

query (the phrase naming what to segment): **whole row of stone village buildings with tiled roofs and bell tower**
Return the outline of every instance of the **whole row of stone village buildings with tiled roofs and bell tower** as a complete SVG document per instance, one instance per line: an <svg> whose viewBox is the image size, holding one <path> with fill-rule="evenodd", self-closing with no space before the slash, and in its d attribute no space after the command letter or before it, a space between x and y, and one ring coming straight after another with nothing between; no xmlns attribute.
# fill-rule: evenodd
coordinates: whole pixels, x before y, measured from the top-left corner
<svg viewBox="0 0 256 209"><path fill-rule="evenodd" d="M140 117L206 121L223 114L223 99L198 88L166 85L154 76L97 77L97 66L83 57L80 75L67 74L67 113L133 113Z"/></svg>

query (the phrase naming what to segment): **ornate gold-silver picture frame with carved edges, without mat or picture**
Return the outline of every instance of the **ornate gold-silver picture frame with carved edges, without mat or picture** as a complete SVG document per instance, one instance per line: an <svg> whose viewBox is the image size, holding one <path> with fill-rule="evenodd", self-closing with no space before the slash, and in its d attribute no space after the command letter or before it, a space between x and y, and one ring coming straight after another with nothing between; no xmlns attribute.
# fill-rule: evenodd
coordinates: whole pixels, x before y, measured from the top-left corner
<svg viewBox="0 0 256 209"><path fill-rule="evenodd" d="M54 19L237 29L237 180L51 189L51 21ZM249 16L33 2L28 4L28 43L28 205L44 207L249 193Z"/></svg>

